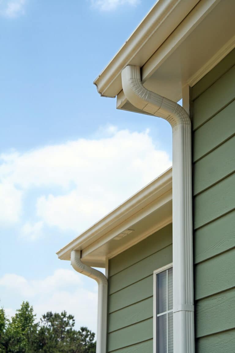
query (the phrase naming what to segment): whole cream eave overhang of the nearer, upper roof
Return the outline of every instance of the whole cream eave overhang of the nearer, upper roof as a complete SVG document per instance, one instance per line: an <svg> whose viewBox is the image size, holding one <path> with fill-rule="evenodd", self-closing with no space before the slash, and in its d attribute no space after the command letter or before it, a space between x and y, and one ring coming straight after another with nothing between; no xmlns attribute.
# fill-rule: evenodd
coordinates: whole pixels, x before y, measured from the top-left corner
<svg viewBox="0 0 235 353"><path fill-rule="evenodd" d="M126 65L141 67L144 86L173 101L235 47L233 0L159 0L94 84L117 96L117 108L138 112L122 91Z"/></svg>

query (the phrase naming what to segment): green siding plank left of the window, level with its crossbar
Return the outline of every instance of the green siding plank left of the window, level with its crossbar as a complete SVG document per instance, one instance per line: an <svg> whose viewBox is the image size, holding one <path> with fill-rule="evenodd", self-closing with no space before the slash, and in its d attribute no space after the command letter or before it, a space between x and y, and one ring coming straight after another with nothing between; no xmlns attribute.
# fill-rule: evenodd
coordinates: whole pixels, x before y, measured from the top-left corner
<svg viewBox="0 0 235 353"><path fill-rule="evenodd" d="M109 315L109 332L153 317L153 297Z"/></svg>

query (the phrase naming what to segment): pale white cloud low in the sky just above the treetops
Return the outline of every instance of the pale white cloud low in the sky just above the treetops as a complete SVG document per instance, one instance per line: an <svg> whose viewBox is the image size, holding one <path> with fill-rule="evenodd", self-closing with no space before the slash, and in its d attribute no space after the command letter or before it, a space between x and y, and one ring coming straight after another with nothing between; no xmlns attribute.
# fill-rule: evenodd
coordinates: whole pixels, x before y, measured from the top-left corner
<svg viewBox="0 0 235 353"><path fill-rule="evenodd" d="M0 278L0 286L16 292L21 301L30 301L37 319L47 311L66 310L75 316L77 328L82 325L96 331L97 290L84 289L82 283L81 274L64 269L58 269L42 280L30 281L16 274L5 274ZM12 308L5 311L8 316L14 315Z"/></svg>

